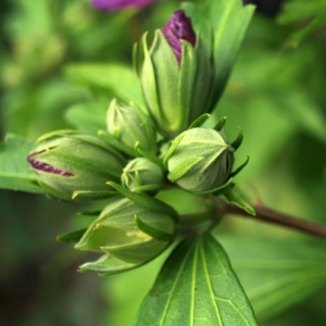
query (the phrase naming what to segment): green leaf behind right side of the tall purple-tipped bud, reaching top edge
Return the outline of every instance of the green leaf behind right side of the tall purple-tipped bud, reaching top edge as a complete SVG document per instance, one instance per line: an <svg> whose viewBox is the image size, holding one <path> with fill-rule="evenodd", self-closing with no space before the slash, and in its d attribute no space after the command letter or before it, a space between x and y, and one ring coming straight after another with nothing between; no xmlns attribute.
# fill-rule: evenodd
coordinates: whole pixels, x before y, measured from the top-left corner
<svg viewBox="0 0 326 326"><path fill-rule="evenodd" d="M184 8L196 32L203 36L206 48L213 48L218 99L238 58L254 7L243 5L241 0L206 0L199 4L187 2Z"/></svg>

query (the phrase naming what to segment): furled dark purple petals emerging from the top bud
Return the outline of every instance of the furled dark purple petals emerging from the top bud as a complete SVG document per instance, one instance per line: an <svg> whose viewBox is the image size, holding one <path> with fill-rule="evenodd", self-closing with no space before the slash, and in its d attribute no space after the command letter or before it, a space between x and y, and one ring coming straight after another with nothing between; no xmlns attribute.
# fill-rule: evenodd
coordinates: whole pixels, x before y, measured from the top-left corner
<svg viewBox="0 0 326 326"><path fill-rule="evenodd" d="M162 28L168 45L171 46L178 63L180 64L183 54L181 39L196 45L196 35L191 27L190 18L186 17L183 10L176 11Z"/></svg>

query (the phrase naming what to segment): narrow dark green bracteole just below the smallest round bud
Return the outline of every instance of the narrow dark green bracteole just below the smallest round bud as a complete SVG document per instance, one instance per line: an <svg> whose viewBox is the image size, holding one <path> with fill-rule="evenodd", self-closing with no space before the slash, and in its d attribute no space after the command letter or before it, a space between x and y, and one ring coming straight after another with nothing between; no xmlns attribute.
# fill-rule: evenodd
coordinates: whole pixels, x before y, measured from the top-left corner
<svg viewBox="0 0 326 326"><path fill-rule="evenodd" d="M149 210L158 213L166 213L173 217L175 222L178 222L178 213L170 205L163 203L162 201L140 192L133 192L127 188L115 184L115 183L108 183L111 187L113 187L116 191L118 191L122 196L128 198L129 200L134 201L135 203L148 208Z"/></svg>

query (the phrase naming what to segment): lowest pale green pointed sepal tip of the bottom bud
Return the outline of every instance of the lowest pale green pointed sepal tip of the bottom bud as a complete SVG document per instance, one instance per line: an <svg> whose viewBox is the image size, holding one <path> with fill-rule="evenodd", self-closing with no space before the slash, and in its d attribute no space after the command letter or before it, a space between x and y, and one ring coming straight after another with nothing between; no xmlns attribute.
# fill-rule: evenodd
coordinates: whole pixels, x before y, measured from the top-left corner
<svg viewBox="0 0 326 326"><path fill-rule="evenodd" d="M130 264L118 260L114 256L110 256L108 254L103 254L100 259L95 262L85 263L79 266L78 272L98 272L99 276L109 276L118 273L123 273L126 271L130 271L135 267L138 267L137 264Z"/></svg>

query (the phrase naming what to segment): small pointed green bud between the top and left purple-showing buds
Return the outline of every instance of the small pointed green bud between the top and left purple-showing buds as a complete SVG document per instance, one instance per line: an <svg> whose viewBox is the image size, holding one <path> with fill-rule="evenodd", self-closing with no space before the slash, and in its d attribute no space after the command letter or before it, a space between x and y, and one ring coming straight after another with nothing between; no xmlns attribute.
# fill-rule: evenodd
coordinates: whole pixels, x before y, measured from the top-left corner
<svg viewBox="0 0 326 326"><path fill-rule="evenodd" d="M154 126L148 115L136 105L118 104L114 99L106 115L108 131L125 146L134 149L136 143L145 151L158 151Z"/></svg>

